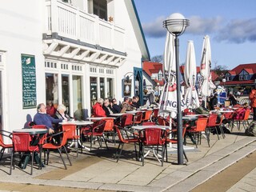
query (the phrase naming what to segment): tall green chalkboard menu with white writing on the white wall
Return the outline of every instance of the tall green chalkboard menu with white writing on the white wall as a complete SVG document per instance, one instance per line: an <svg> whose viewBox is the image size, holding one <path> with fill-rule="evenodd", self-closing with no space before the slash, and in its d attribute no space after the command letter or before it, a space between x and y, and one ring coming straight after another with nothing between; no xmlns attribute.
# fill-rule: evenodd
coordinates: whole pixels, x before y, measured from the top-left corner
<svg viewBox="0 0 256 192"><path fill-rule="evenodd" d="M34 55L22 54L22 90L23 109L36 107L37 90Z"/></svg>

